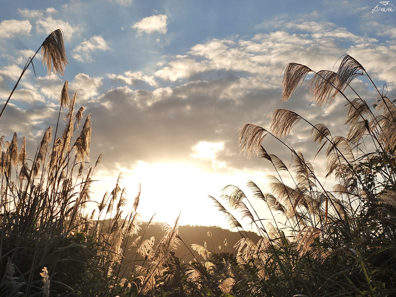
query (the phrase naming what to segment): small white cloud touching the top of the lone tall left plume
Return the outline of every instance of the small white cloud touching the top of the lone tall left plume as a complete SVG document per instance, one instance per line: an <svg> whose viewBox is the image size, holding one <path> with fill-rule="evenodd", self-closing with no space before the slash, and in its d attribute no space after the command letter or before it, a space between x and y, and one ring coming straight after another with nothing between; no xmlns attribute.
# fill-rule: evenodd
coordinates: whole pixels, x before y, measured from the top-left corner
<svg viewBox="0 0 396 297"><path fill-rule="evenodd" d="M36 21L36 31L38 33L44 32L49 34L57 29L62 29L66 41L70 41L73 36L75 37L76 35L80 35L83 30L81 25L73 27L69 22L65 22L61 19L53 19L51 15Z"/></svg>

